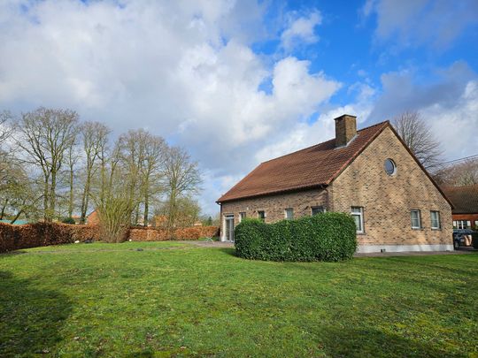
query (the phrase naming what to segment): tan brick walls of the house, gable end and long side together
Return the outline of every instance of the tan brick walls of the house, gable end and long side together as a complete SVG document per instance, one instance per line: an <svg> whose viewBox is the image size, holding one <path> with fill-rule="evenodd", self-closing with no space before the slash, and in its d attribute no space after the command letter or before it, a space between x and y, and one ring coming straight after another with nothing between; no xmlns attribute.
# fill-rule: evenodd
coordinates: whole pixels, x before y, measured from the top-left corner
<svg viewBox="0 0 478 358"><path fill-rule="evenodd" d="M397 164L391 176L384 171L387 158ZM359 251L452 249L449 202L389 127L326 189L222 202L221 234L224 238L227 214L234 214L237 225L240 212L258 217L258 210L264 210L266 223L274 223L285 218L287 208L294 209L294 217L301 217L310 216L314 206L342 212L362 207L365 232L358 234ZM420 210L420 229L412 229L412 209ZM430 210L440 212L439 230L431 229Z"/></svg>

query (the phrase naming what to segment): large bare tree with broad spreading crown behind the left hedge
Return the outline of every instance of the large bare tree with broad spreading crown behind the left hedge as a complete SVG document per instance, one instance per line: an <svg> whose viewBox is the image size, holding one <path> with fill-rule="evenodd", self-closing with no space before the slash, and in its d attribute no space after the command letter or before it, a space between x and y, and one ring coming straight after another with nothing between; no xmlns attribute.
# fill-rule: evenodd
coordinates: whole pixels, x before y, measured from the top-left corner
<svg viewBox="0 0 478 358"><path fill-rule="evenodd" d="M23 149L23 161L42 172L43 217L51 221L56 213L58 174L77 130L78 114L73 110L39 108L23 113L16 126L16 143Z"/></svg>

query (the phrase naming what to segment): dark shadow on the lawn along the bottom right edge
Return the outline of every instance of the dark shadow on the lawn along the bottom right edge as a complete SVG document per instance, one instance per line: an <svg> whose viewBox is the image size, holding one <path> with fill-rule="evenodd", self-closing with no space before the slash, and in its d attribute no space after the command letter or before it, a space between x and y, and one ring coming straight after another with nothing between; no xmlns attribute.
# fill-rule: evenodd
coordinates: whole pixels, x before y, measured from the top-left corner
<svg viewBox="0 0 478 358"><path fill-rule="evenodd" d="M428 341L406 338L397 333L376 329L329 327L325 330L323 349L334 357L454 357L450 352L433 347Z"/></svg>

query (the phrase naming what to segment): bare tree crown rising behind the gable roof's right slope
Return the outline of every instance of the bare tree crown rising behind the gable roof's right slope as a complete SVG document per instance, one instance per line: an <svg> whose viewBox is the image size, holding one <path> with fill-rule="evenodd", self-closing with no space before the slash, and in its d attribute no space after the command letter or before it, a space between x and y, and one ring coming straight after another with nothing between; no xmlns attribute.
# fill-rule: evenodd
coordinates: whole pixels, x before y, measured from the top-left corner
<svg viewBox="0 0 478 358"><path fill-rule="evenodd" d="M403 112L393 118L392 125L424 167L430 169L440 163L440 143L418 111Z"/></svg>

